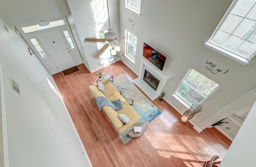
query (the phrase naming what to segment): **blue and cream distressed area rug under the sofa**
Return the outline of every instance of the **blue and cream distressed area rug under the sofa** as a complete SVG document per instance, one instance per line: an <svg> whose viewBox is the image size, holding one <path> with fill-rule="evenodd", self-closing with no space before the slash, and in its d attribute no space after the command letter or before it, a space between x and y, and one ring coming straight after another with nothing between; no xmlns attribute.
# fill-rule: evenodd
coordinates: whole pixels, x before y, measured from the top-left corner
<svg viewBox="0 0 256 167"><path fill-rule="evenodd" d="M120 87L124 87L134 93L135 99L132 108L141 116L139 122L148 121L150 123L162 113L124 74L115 77L112 84L118 91L120 91ZM129 130L119 135L124 144L132 139L127 136Z"/></svg>

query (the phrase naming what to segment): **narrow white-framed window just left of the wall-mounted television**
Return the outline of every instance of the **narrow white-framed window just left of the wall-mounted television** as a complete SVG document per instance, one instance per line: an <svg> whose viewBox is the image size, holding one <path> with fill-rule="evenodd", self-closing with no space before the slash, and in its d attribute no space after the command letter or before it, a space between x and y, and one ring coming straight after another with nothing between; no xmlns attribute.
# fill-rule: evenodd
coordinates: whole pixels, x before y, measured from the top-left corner
<svg viewBox="0 0 256 167"><path fill-rule="evenodd" d="M137 35L125 30L125 54L135 63Z"/></svg>

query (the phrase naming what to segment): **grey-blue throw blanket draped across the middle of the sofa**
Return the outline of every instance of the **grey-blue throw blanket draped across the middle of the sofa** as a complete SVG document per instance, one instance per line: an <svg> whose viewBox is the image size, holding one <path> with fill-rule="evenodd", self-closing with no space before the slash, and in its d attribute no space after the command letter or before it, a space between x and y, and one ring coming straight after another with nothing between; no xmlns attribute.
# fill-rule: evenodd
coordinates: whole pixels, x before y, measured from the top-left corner
<svg viewBox="0 0 256 167"><path fill-rule="evenodd" d="M107 99L106 97L103 97L103 96L96 97L94 104L97 104L100 110L103 106L109 106L115 110L123 108L120 99L114 100L114 101L109 101L109 99Z"/></svg>

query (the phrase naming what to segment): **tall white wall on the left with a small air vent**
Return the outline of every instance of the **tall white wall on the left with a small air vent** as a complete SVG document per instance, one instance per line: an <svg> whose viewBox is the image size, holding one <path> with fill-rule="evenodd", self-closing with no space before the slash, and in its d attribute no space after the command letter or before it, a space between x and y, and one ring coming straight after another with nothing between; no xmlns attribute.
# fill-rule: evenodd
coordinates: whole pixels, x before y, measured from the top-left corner
<svg viewBox="0 0 256 167"><path fill-rule="evenodd" d="M86 167L90 161L52 76L0 18L10 167ZM10 77L20 88L11 89ZM84 152L85 154L83 154Z"/></svg>

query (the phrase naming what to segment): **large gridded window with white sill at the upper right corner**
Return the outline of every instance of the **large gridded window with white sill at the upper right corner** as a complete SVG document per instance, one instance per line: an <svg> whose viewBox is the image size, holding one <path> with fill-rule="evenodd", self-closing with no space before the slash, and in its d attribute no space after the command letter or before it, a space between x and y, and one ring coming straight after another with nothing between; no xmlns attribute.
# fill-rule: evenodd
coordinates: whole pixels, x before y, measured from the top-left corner
<svg viewBox="0 0 256 167"><path fill-rule="evenodd" d="M256 54L256 0L234 0L204 46L248 64Z"/></svg>

